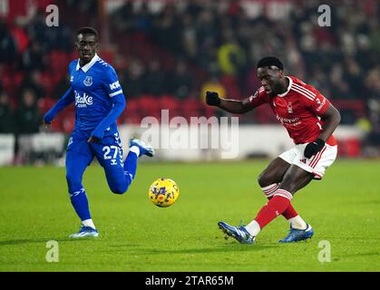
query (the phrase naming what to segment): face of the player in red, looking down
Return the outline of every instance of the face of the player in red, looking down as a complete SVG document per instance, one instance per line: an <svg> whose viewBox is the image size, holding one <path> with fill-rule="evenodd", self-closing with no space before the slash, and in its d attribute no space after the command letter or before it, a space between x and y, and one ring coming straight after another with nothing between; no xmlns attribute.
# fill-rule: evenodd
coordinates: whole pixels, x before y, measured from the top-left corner
<svg viewBox="0 0 380 290"><path fill-rule="evenodd" d="M274 97L282 91L282 78L283 73L277 67L272 66L269 68L266 66L258 68L258 79L270 97Z"/></svg>

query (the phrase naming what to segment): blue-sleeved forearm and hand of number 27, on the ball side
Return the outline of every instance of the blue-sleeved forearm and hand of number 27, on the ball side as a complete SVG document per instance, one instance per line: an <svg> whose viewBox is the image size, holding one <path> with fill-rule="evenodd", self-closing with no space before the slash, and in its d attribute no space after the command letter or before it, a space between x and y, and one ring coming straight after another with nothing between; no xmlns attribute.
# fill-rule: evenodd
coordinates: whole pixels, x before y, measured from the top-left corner
<svg viewBox="0 0 380 290"><path fill-rule="evenodd" d="M96 142L102 140L104 136L104 131L111 126L113 122L119 118L122 114L122 111L125 109L125 97L124 94L119 93L116 96L111 97L113 107L108 115L99 123L99 125L93 130L91 137L88 142Z"/></svg>

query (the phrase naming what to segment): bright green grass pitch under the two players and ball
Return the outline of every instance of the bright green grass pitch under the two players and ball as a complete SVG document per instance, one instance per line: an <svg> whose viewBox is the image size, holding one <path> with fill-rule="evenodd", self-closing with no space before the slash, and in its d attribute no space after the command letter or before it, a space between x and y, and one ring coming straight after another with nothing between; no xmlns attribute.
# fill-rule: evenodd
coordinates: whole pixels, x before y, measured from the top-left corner
<svg viewBox="0 0 380 290"><path fill-rule="evenodd" d="M220 220L248 223L266 203L257 176L267 164L141 162L122 196L92 166L83 185L100 237L86 240L67 238L80 224L63 168L2 168L0 271L380 271L379 161L338 160L323 181L296 194L293 204L314 227L312 239L278 244L288 230L282 217L254 245L225 239ZM180 186L171 208L148 198L160 177ZM53 249L58 262L46 259Z"/></svg>

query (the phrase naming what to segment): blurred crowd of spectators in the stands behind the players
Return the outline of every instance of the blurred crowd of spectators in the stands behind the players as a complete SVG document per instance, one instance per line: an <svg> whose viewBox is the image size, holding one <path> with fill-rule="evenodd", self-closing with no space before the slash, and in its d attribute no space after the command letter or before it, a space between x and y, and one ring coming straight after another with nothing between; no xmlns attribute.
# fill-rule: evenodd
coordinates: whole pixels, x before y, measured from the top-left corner
<svg viewBox="0 0 380 290"><path fill-rule="evenodd" d="M324 3L317 0L124 1L105 14L95 0L38 3L64 11L59 27L47 27L38 7L30 17L0 20L0 132L40 130L41 100L58 99L68 86L65 70L77 57L73 34L92 25L129 100L171 95L203 102L208 90L242 99L259 86L258 60L277 55L288 74L336 102L343 123L362 124L368 142L379 144L378 1L329 1L331 26L318 25Z"/></svg>

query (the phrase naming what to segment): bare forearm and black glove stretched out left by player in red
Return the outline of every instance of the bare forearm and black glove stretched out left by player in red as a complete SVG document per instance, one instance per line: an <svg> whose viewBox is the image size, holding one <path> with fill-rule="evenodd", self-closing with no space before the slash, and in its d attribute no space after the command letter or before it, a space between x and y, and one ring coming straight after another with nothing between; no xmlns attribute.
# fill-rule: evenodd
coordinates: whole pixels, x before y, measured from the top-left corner
<svg viewBox="0 0 380 290"><path fill-rule="evenodd" d="M219 98L218 92L206 92L206 103L209 106L216 106L224 111L229 111L235 114L242 114L253 110L253 107L249 106L246 100L237 101L232 99L221 99Z"/></svg>

